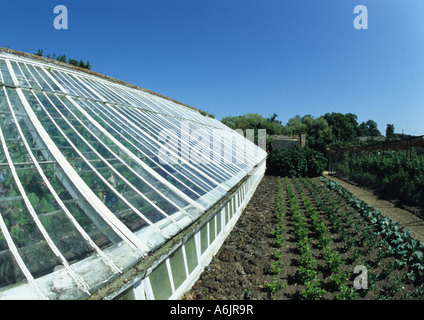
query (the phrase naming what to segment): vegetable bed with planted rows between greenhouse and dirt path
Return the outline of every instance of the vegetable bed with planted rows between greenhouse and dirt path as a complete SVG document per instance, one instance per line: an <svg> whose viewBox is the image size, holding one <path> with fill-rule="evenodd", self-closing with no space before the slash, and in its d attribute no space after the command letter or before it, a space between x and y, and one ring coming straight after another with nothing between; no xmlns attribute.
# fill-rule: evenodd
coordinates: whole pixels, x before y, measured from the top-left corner
<svg viewBox="0 0 424 320"><path fill-rule="evenodd" d="M424 246L321 178L265 176L186 299L422 299Z"/></svg>

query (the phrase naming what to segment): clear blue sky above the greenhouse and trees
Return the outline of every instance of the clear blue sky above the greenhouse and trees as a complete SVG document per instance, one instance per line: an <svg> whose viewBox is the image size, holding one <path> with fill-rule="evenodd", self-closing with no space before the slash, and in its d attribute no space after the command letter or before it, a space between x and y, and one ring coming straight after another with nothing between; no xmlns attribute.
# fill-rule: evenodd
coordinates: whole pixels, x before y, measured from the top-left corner
<svg viewBox="0 0 424 320"><path fill-rule="evenodd" d="M424 134L422 0L2 0L1 15L1 47L89 60L217 119L351 112Z"/></svg>

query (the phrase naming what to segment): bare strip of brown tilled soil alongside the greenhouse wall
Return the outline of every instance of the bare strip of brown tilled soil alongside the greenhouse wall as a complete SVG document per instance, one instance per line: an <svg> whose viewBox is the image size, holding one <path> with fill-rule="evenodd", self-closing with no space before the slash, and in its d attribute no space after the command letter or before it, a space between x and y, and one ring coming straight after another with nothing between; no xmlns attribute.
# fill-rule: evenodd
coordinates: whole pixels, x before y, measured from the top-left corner
<svg viewBox="0 0 424 320"><path fill-rule="evenodd" d="M277 178L266 177L221 249L184 296L199 299L269 299L263 283L274 252L272 230Z"/></svg>

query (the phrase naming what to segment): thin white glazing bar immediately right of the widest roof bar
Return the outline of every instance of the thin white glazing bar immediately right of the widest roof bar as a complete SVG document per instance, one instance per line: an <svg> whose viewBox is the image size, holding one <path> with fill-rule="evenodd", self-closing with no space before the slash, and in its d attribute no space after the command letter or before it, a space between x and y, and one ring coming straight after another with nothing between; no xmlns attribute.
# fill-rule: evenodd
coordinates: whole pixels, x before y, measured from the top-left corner
<svg viewBox="0 0 424 320"><path fill-rule="evenodd" d="M53 119L53 117L48 113L48 111L45 109L41 101L38 99L36 95L34 95L37 99L40 106L43 108L44 112L49 117L50 121L55 125L57 130L62 134L62 136L66 139L66 141L69 143L69 145L75 150L75 152L78 154L78 156L81 158L81 160L84 161L87 166L93 171L93 173L113 192L117 195L118 198L121 199L122 202L124 202L132 211L134 211L140 218L142 218L147 224L152 226L162 237L165 239L168 239L169 236L163 233L162 230L160 230L153 222L151 222L149 219L147 219L136 207L134 207L118 190L115 189L115 187L107 180L103 175L97 171L97 169L91 164L90 161L83 155L83 153L76 147L76 145L69 139L69 137L65 134L65 132L60 128L60 126L57 124L57 122ZM50 98L45 95L46 98L49 100L49 102L54 106L54 103L50 100ZM76 130L75 130L76 131ZM147 246L146 246L147 247Z"/></svg>

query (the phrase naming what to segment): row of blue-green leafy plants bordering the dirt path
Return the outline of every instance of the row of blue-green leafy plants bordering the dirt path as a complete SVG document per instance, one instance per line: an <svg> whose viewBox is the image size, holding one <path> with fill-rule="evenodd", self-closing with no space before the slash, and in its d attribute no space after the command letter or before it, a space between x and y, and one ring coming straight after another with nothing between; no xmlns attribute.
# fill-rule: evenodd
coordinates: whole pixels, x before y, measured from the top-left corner
<svg viewBox="0 0 424 320"><path fill-rule="evenodd" d="M363 228L359 240L363 240L363 250L369 252L377 248L376 259L371 262L376 271L369 276L369 286L376 290L376 281L389 278L392 280L391 287L384 293L377 291L377 297L380 299L393 297L402 291L403 284L413 284L416 289L402 293L400 298L422 298L424 245L413 239L410 231L404 231L398 222L383 216L380 211L343 189L337 182L325 178L323 181L330 191L334 190L341 200L358 212L362 221L368 222L368 227Z"/></svg>

